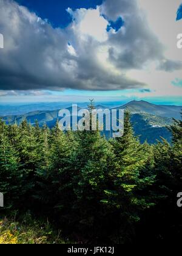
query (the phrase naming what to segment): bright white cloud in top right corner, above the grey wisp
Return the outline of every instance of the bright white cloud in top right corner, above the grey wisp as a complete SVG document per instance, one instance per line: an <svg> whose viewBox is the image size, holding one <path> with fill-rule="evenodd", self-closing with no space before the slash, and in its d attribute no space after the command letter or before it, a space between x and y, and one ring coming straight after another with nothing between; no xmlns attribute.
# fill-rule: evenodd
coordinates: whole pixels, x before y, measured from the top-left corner
<svg viewBox="0 0 182 256"><path fill-rule="evenodd" d="M176 21L181 0L138 0L147 15L150 27L163 43L167 59L182 60L177 48L177 35L182 31L182 20Z"/></svg>

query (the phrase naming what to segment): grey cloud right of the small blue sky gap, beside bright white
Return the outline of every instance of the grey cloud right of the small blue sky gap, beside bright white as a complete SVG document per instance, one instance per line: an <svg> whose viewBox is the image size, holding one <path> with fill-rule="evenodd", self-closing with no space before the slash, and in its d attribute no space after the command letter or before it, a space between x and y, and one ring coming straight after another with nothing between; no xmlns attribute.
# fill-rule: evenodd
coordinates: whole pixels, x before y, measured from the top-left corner
<svg viewBox="0 0 182 256"><path fill-rule="evenodd" d="M150 29L143 10L139 9L136 0L106 0L101 7L109 19L121 16L124 28L109 38L110 61L121 69L142 69L147 63L164 59L164 46ZM165 60L161 69L175 70L180 63Z"/></svg>

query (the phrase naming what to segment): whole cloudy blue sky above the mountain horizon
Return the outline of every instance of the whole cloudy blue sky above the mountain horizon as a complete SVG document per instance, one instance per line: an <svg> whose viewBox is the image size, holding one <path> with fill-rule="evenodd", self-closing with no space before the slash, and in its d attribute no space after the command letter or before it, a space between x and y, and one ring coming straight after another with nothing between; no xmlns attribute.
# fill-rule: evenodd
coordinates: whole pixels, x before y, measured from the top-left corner
<svg viewBox="0 0 182 256"><path fill-rule="evenodd" d="M182 105L182 0L0 0L0 104Z"/></svg>

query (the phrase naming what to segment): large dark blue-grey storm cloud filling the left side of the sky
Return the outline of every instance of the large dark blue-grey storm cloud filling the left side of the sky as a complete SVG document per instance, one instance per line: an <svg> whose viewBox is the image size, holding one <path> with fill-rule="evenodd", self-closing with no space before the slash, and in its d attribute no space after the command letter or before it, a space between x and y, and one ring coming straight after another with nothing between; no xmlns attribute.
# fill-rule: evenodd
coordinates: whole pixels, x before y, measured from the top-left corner
<svg viewBox="0 0 182 256"><path fill-rule="evenodd" d="M67 44L72 31L53 29L13 1L0 0L0 31L5 40L0 52L1 90L118 90L143 86L98 65L96 43L92 49L88 40L86 52L81 46L77 57L69 54Z"/></svg>

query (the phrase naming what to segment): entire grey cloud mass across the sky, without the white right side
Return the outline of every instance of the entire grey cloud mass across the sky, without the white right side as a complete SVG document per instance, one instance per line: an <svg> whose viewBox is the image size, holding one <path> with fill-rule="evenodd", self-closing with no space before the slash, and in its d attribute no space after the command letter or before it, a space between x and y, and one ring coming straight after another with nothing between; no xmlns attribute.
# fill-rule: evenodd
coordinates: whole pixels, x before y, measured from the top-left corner
<svg viewBox="0 0 182 256"><path fill-rule="evenodd" d="M138 3L106 0L97 9L68 9L72 23L53 29L15 1L0 0L0 89L141 89L146 82L129 71L151 63L166 72L181 69L180 60L165 57L164 45ZM118 18L123 26L107 29Z"/></svg>

